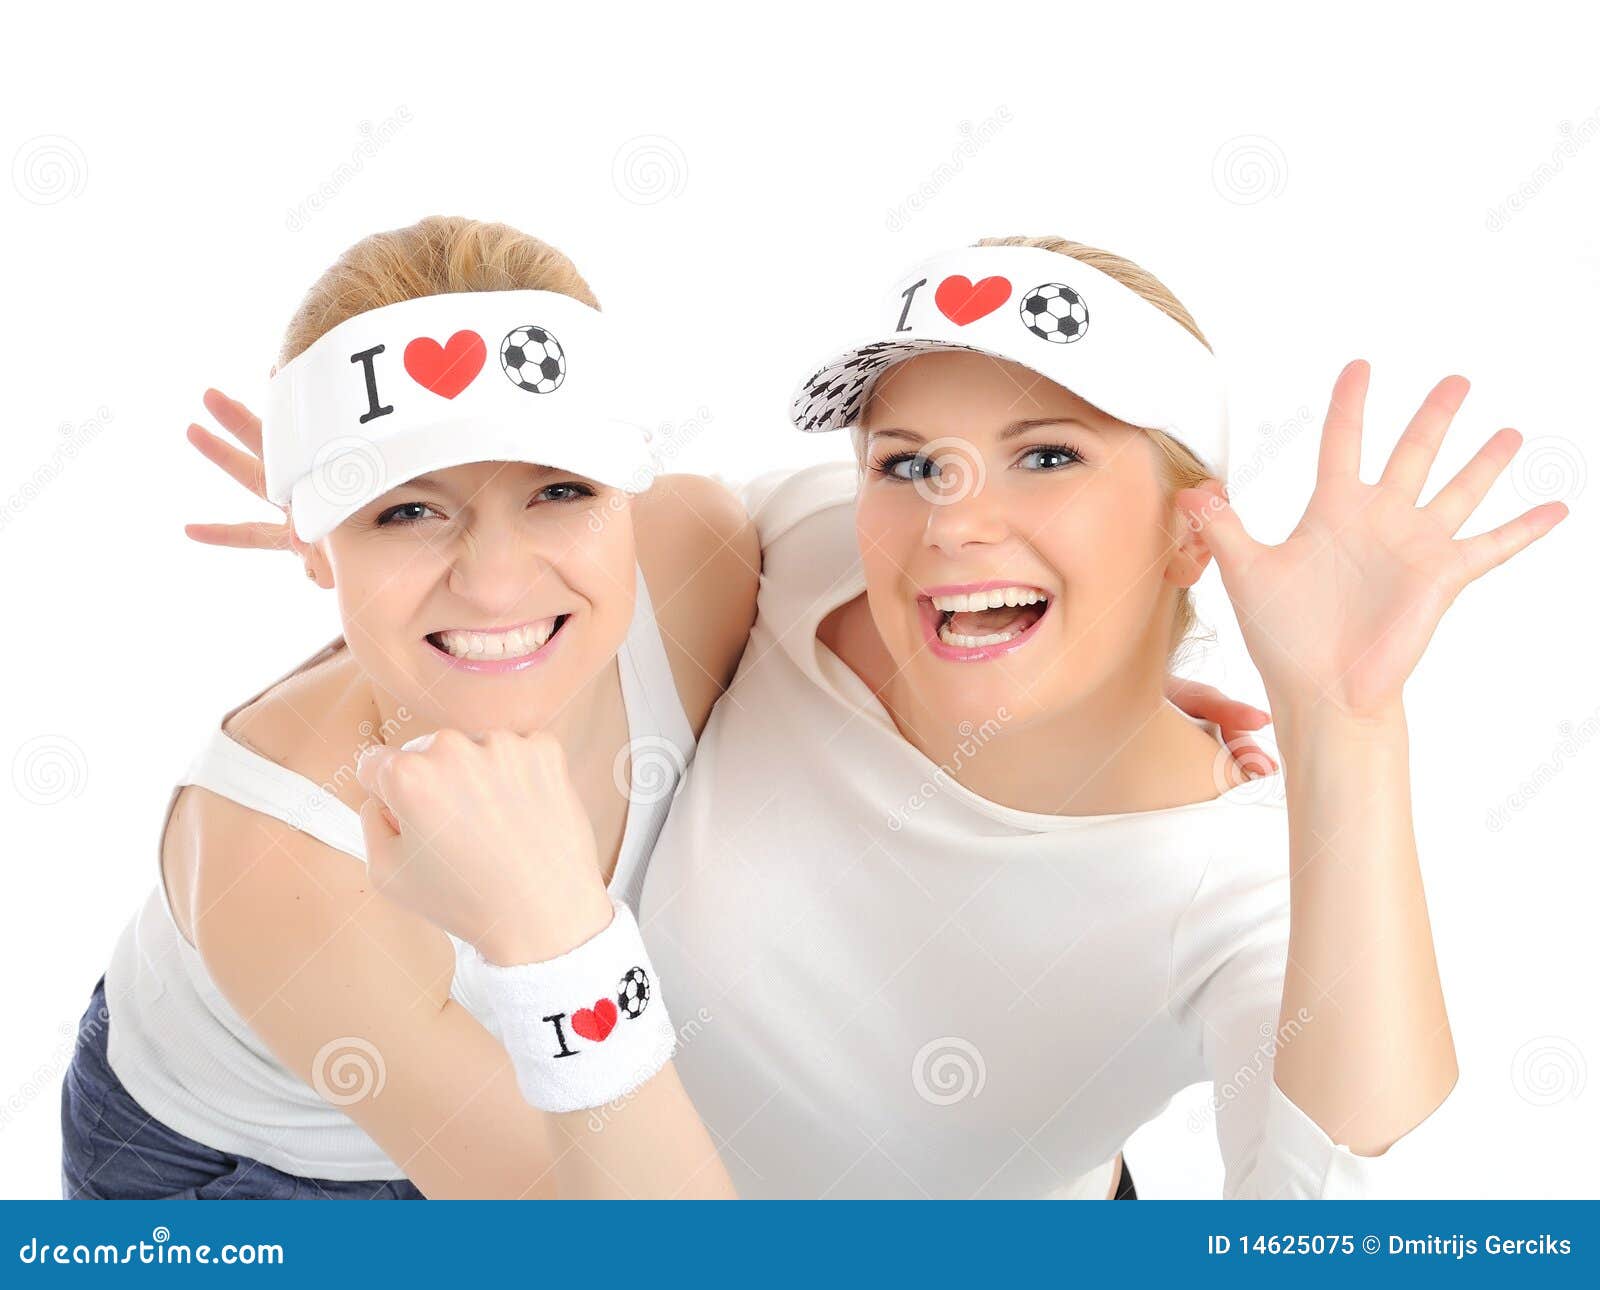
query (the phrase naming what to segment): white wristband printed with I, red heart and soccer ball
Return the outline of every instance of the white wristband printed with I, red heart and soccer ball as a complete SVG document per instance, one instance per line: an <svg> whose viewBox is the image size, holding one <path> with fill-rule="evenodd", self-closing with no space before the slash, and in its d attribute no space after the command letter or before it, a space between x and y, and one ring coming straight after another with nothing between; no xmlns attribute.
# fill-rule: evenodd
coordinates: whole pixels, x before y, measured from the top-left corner
<svg viewBox="0 0 1600 1290"><path fill-rule="evenodd" d="M542 963L478 955L517 1087L541 1111L605 1106L672 1060L677 1034L638 923L614 896L611 911L602 931Z"/></svg>

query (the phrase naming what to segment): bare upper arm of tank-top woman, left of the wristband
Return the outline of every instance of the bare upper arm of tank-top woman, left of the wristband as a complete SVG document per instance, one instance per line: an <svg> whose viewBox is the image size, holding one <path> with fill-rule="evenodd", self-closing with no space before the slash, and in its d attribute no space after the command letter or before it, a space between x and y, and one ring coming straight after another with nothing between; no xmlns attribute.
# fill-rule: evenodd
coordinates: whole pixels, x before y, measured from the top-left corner
<svg viewBox="0 0 1600 1290"><path fill-rule="evenodd" d="M552 1197L549 1125L506 1050L450 999L454 954L438 930L379 896L360 861L192 792L194 939L272 1053L424 1196Z"/></svg>

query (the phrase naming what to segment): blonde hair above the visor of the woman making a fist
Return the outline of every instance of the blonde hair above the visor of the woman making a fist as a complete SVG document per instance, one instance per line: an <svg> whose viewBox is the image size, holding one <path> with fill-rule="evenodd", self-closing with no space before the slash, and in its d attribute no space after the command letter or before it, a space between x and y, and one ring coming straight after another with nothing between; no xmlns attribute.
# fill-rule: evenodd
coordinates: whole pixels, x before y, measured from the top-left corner
<svg viewBox="0 0 1600 1290"><path fill-rule="evenodd" d="M430 214L405 229L363 237L317 282L290 318L278 367L326 331L386 304L450 291L558 291L598 309L565 254L509 224Z"/></svg>

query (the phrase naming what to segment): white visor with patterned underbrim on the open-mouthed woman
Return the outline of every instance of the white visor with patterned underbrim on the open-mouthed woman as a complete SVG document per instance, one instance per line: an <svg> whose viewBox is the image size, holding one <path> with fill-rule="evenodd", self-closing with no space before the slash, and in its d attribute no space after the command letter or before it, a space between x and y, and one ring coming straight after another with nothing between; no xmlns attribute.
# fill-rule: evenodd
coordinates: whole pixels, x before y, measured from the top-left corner
<svg viewBox="0 0 1600 1290"><path fill-rule="evenodd" d="M877 330L806 378L790 418L802 431L854 426L878 376L941 349L1010 359L1227 471L1216 355L1117 278L1038 246L963 246L902 274Z"/></svg>

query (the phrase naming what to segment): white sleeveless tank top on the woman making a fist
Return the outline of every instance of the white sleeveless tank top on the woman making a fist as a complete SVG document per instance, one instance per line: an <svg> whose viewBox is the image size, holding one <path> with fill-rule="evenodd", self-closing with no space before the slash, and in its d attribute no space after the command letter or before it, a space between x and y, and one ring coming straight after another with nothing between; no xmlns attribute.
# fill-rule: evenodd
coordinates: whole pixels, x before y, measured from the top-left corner
<svg viewBox="0 0 1600 1290"><path fill-rule="evenodd" d="M678 701L643 573L637 584L634 619L618 651L618 674L638 791L630 795L610 883L610 891L634 907L645 861L670 805L670 789L680 767L694 755L694 731ZM288 675L322 661L336 643ZM366 863L362 819L354 810L307 776L245 747L221 725L211 728L182 784L208 787ZM176 800L178 789L168 802L168 818ZM454 936L451 941L456 976L450 994L498 1036L477 975L464 972L475 952ZM160 880L160 847L155 890L128 923L106 970L106 1000L112 1071L134 1101L179 1133L309 1178L405 1176L365 1130L285 1068L213 984L198 951L173 922ZM355 1060L362 1060L358 1053Z"/></svg>

